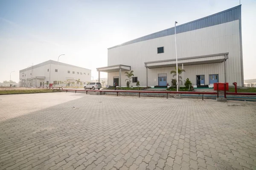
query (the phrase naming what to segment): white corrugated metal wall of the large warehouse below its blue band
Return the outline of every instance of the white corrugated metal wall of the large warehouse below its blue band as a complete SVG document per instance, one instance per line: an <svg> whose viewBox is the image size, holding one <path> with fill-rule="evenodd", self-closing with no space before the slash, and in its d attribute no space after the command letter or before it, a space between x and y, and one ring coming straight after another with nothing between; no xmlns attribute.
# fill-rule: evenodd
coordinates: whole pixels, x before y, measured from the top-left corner
<svg viewBox="0 0 256 170"><path fill-rule="evenodd" d="M240 57L239 20L180 33L176 36L178 58L228 52L229 59L227 59L227 82L229 82L230 84L232 84L233 82L237 82L239 86L242 85L243 82L241 77L242 73ZM134 70L134 75L135 77L138 77L140 85L145 86L146 68L144 62L175 59L174 37L174 35L170 35L109 49L108 65L131 65L131 70ZM164 47L164 53L157 54L157 47L162 46ZM221 67L217 67L216 65L219 64L208 65L208 67L204 69L204 75L206 76L206 79L208 73L219 75L224 74L224 70L221 69ZM201 67L204 66L186 66L186 72L198 75ZM166 71L168 69L171 70L170 68L161 69L166 69ZM160 73L159 71L161 69L148 70L148 85L155 85L154 79L157 79L157 74ZM206 69L208 69L208 71ZM203 69L201 71L203 71ZM164 73L169 73L169 71ZM109 85L113 83L113 80L111 80L113 79L113 75L119 76L119 73L108 74ZM125 77L122 78L122 85L125 85L124 80ZM194 81L193 79L191 80ZM223 82L224 79L221 78L220 81Z"/></svg>

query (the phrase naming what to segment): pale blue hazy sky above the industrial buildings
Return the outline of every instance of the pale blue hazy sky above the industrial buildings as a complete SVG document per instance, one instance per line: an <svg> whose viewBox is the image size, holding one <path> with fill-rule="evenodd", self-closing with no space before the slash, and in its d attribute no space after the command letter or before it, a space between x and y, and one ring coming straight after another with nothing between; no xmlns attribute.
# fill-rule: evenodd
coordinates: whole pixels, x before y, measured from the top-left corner
<svg viewBox="0 0 256 170"><path fill-rule="evenodd" d="M241 0L244 79L255 79L256 0ZM49 59L92 70L107 48L239 5L239 0L0 0L0 82ZM253 64L254 63L254 64ZM101 77L107 77L103 74Z"/></svg>

